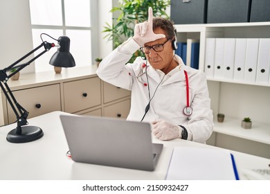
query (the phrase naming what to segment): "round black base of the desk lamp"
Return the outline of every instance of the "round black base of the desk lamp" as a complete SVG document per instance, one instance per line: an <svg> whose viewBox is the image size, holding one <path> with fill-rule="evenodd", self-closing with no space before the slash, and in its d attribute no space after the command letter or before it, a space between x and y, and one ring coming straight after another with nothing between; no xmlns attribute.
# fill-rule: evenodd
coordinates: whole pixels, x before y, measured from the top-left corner
<svg viewBox="0 0 270 194"><path fill-rule="evenodd" d="M10 143L27 143L42 138L44 135L41 128L36 126L21 126L21 133L17 134L17 128L11 130L6 139Z"/></svg>

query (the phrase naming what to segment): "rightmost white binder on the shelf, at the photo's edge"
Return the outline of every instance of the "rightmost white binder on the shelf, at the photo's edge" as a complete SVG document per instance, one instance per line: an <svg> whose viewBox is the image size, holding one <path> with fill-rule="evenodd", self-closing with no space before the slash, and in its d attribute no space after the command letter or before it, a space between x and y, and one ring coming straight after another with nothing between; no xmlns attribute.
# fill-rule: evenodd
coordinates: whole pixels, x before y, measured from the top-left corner
<svg viewBox="0 0 270 194"><path fill-rule="evenodd" d="M258 51L256 82L268 83L270 69L270 38L261 38Z"/></svg>

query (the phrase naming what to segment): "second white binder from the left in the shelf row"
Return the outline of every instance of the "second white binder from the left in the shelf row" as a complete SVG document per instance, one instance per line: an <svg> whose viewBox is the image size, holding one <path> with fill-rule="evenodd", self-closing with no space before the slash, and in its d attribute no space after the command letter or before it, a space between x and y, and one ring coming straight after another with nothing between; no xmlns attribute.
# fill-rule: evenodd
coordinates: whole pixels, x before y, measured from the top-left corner
<svg viewBox="0 0 270 194"><path fill-rule="evenodd" d="M224 38L216 38L214 78L224 78L223 58L224 58Z"/></svg>

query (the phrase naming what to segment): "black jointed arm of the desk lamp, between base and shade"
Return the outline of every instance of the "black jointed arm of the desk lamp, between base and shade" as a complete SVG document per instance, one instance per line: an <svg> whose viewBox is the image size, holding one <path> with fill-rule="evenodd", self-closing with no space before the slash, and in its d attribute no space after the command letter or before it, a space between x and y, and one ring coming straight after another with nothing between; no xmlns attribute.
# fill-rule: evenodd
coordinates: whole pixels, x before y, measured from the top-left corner
<svg viewBox="0 0 270 194"><path fill-rule="evenodd" d="M19 64L19 65L16 66L16 64L21 62L21 60L24 60L30 54L34 53L35 51L37 51L42 46L44 46L44 48L45 48L45 50L42 51L42 53L39 53L37 56L35 56L33 59L29 60L26 63ZM33 62L34 60L39 58L41 55L43 55L44 53L49 51L54 46L55 46L55 44L53 44L53 43L42 42L42 44L37 46L37 48L35 48L33 51L30 51L29 53L24 55L24 57L20 58L19 60L17 60L13 64L11 64L9 67L6 67L5 69L0 70L0 87L1 87L1 89L3 91L3 94L5 94L6 99L8 100L8 103L10 104L13 112L16 115L16 118L17 118L17 134L21 133L21 126L28 124L26 119L28 117L29 112L27 112L26 109L24 109L24 107L19 105L19 103L17 103L17 100L16 100L15 96L12 94L12 91L10 90L10 87L8 87L7 81L15 73L21 71L21 69L24 69L24 67L28 66L31 62ZM16 68L16 71L10 73L10 75L7 75L6 71L10 71L10 69L13 69L13 68ZM3 84L2 84L2 82L3 82ZM3 85L5 85L6 88Z"/></svg>

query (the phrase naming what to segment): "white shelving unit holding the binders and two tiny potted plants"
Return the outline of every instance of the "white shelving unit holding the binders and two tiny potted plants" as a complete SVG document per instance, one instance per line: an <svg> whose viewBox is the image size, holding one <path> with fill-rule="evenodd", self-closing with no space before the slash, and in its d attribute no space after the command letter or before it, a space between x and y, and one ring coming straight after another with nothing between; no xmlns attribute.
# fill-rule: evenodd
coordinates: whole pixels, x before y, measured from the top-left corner
<svg viewBox="0 0 270 194"><path fill-rule="evenodd" d="M270 38L270 22L183 24L175 27L178 42L188 38L200 40L201 71L205 69L208 37ZM270 158L270 83L208 78L208 89L215 118L214 133L208 143ZM216 122L217 113L225 114L224 123ZM253 121L251 130L241 127L242 118L247 116Z"/></svg>

